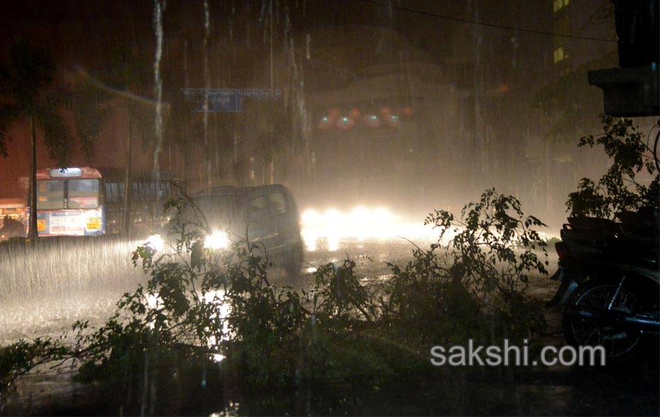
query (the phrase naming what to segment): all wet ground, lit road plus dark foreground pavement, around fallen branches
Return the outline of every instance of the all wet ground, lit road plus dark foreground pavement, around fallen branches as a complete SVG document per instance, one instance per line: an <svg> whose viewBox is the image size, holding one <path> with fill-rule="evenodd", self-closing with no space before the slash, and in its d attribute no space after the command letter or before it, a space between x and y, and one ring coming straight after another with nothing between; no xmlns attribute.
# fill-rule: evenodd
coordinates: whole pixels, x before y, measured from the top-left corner
<svg viewBox="0 0 660 417"><path fill-rule="evenodd" d="M124 291L131 291L145 281L133 268L130 252L133 243L108 240L92 252L76 247L14 252L13 265L6 259L0 265L3 293L0 295L0 344L35 336L58 336L79 319L100 325L110 316L115 302ZM356 260L357 271L365 280L386 279L386 261L403 263L412 247L404 240L352 241L329 251L319 245L306 254L306 265L297 279L290 280L276 272L280 285L311 284L314 265L341 261L345 256ZM88 266L92 260L93 267ZM556 259L550 259L550 268ZM33 265L28 265L33 263ZM23 270L23 271L21 271ZM28 271L28 272L25 272ZM90 273L93 272L93 275ZM12 275L13 274L13 275ZM279 274L279 275L278 275ZM556 287L546 277L533 277L529 293L538 300L548 300ZM547 309L549 329L540 336L541 343L563 345L561 313ZM283 408L260 408L272 404L254 400L239 407L240 414L352 414L352 415L651 415L660 414L660 373L657 345L629 363L606 368L553 366L550 368L435 368L422 381L401 381L390 387L314 387L297 393ZM431 367L429 364L429 368ZM72 371L41 369L19 383L17 395L0 414L109 414L120 409L99 409L99 386L83 386L71 380ZM324 390L347 392L345 401L327 403ZM204 395L199 388L197 395ZM102 387L100 389L102 390ZM349 396L350 394L350 396ZM277 397L276 393L273 393ZM207 395L213 398L213 393ZM229 400L221 398L220 400ZM236 399L233 399L236 400ZM304 403L300 405L300 402ZM204 404L204 402L199 402ZM199 405L198 404L198 405ZM216 404L222 404L222 401ZM201 405L200 405L201 407ZM210 408L209 408L210 407ZM207 414L222 409L179 409L175 414ZM269 406L270 407L270 406Z"/></svg>

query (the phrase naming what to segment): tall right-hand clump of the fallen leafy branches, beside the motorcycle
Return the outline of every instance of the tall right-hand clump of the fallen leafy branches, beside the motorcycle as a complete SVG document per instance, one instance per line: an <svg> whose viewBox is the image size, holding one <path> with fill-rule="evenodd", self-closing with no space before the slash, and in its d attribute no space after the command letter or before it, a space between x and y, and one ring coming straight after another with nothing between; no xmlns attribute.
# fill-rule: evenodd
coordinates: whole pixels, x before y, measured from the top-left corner
<svg viewBox="0 0 660 417"><path fill-rule="evenodd" d="M435 211L425 220L440 229L429 250L417 248L405 268L390 264L385 320L406 343L465 343L522 339L545 327L524 296L530 273L546 275L536 250L547 244L524 217L520 202L486 190L457 219ZM443 236L454 234L447 245ZM518 249L518 247L521 249Z"/></svg>

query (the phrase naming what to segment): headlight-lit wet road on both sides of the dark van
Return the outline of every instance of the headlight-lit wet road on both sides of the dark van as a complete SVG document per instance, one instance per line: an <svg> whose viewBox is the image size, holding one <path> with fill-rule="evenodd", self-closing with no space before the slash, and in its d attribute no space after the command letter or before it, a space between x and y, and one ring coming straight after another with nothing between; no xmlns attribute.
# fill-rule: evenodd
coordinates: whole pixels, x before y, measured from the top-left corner
<svg viewBox="0 0 660 417"><path fill-rule="evenodd" d="M18 338L58 334L75 320L101 324L111 315L119 297L147 281L135 268L131 254L139 241L67 238L37 247L3 248L0 262L0 344ZM418 242L423 245L423 242ZM308 286L318 265L356 261L365 281L385 278L386 261L404 263L413 245L404 239L342 240L334 250L319 238L307 251L299 277L272 271L279 285Z"/></svg>

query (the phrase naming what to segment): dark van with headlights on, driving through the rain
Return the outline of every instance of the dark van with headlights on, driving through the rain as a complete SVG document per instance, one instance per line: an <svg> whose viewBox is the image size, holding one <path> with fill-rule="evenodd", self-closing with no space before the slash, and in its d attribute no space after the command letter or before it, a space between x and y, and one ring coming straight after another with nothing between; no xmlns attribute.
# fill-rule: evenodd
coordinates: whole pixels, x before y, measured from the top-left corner
<svg viewBox="0 0 660 417"><path fill-rule="evenodd" d="M298 274L303 259L300 216L286 187L215 187L193 195L192 201L204 214L211 236L221 233L225 238L229 230L236 238L263 245L269 261Z"/></svg>

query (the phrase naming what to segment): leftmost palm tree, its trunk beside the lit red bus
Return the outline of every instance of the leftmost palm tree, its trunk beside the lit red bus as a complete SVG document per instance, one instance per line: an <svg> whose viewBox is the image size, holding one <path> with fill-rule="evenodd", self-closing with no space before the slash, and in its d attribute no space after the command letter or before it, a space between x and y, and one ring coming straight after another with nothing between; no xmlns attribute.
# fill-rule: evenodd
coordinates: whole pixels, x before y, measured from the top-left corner
<svg viewBox="0 0 660 417"><path fill-rule="evenodd" d="M26 117L30 122L30 231L28 238L37 234L37 126L44 135L49 156L66 167L72 154L69 129L58 113L67 104L61 92L52 92L55 65L44 49L33 47L19 39L10 49L10 66L0 67L0 154L7 158L7 132L17 120Z"/></svg>

